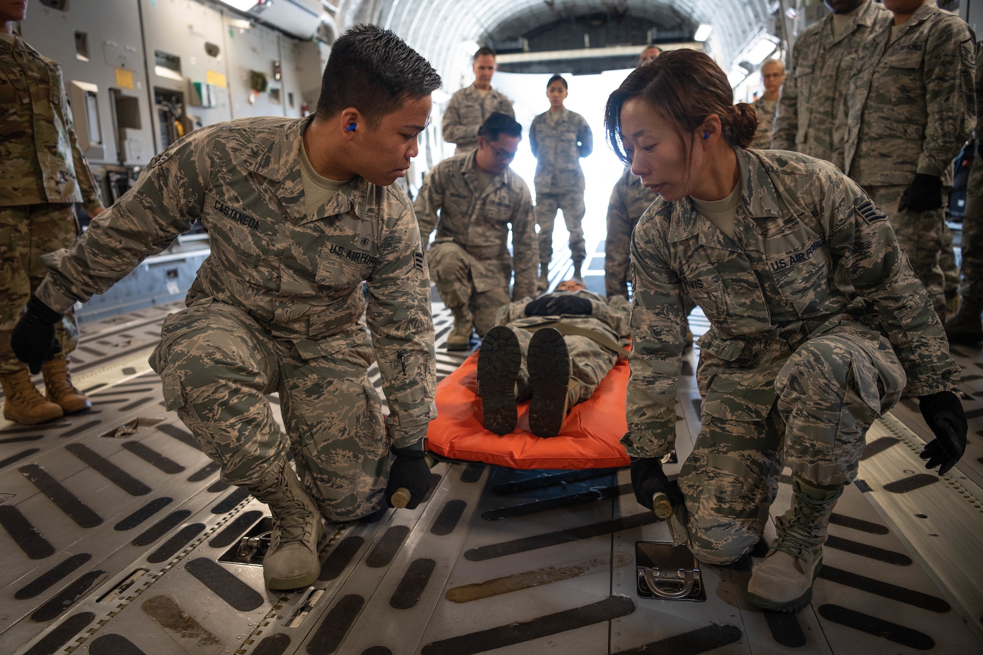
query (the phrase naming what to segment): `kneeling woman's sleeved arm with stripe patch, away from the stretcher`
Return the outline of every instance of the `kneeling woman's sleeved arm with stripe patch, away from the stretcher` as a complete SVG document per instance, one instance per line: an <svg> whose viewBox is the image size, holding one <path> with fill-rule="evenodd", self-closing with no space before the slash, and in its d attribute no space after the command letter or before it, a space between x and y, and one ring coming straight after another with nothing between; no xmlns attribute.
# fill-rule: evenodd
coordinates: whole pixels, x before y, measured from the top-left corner
<svg viewBox="0 0 983 655"><path fill-rule="evenodd" d="M816 204L834 268L841 263L857 295L873 301L908 382L908 395L954 388L959 368L925 286L881 208L833 164L819 162Z"/></svg>

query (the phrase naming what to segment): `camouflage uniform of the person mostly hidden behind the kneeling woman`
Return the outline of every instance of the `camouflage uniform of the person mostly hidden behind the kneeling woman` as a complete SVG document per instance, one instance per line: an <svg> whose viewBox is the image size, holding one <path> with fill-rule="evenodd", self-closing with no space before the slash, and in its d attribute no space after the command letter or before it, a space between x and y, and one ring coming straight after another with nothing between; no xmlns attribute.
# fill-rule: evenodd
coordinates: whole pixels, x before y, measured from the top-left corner
<svg viewBox="0 0 983 655"><path fill-rule="evenodd" d="M655 194L642 186L642 178L625 167L611 190L607 202L607 237L605 240L605 288L607 296L628 297L629 249L631 231L642 213L656 200Z"/></svg>

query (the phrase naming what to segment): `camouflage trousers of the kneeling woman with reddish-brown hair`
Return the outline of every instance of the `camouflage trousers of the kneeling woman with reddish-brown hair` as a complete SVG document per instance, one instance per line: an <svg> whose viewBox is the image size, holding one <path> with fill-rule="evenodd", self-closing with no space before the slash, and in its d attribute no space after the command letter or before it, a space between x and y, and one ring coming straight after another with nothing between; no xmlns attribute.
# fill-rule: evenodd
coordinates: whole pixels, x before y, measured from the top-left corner
<svg viewBox="0 0 983 655"><path fill-rule="evenodd" d="M742 358L757 366L734 368ZM679 473L686 503L669 526L677 544L719 565L758 542L783 466L812 484L851 482L868 428L906 383L890 342L847 322L794 352L777 338L746 342L733 362L705 348L697 379L702 427Z"/></svg>

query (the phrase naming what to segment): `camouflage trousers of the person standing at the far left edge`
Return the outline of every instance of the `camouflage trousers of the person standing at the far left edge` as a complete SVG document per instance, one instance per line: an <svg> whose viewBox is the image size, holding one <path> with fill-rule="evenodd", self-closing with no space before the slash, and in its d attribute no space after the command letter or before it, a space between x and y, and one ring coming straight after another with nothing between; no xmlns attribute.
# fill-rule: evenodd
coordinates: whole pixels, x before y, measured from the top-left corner
<svg viewBox="0 0 983 655"><path fill-rule="evenodd" d="M30 292L47 273L41 255L68 248L78 236L79 222L71 203L0 207L0 375L27 368L11 350L10 335ZM79 345L74 310L55 326L55 336L65 355Z"/></svg>

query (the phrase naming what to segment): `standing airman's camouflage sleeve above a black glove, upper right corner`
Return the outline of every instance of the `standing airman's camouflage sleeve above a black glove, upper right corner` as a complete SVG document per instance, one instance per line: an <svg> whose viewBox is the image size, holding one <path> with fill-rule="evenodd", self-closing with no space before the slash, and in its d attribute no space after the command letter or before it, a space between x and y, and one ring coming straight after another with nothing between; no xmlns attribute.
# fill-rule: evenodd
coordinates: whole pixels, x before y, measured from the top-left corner
<svg viewBox="0 0 983 655"><path fill-rule="evenodd" d="M976 44L966 25L950 17L929 33L922 61L928 121L917 172L941 177L976 124Z"/></svg>

